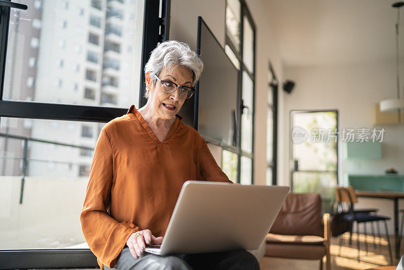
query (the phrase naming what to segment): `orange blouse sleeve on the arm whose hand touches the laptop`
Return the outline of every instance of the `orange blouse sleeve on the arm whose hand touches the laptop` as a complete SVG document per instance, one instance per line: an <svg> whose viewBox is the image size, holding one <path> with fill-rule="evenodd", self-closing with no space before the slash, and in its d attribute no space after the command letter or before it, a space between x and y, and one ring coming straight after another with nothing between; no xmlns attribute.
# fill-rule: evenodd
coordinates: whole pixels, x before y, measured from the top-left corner
<svg viewBox="0 0 404 270"><path fill-rule="evenodd" d="M80 215L83 235L98 259L112 268L129 236L140 228L131 222L118 222L109 215L114 160L105 127L95 145L83 209ZM102 269L102 264L100 264Z"/></svg>

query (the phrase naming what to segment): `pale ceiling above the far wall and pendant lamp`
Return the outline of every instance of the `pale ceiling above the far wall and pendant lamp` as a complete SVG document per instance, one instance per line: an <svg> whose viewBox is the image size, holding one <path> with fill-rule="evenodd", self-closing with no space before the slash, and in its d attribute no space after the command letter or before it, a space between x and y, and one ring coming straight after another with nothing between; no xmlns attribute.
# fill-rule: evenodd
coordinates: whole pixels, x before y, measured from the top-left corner
<svg viewBox="0 0 404 270"><path fill-rule="evenodd" d="M265 0L264 0L265 1ZM395 60L391 0L266 0L285 66ZM400 9L400 59L404 7Z"/></svg>

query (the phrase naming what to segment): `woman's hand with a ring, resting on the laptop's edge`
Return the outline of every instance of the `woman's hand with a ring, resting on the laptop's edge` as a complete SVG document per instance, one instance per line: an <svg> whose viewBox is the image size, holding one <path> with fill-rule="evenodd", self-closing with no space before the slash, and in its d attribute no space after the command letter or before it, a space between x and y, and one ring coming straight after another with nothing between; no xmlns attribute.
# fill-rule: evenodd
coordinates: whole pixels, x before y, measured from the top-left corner
<svg viewBox="0 0 404 270"><path fill-rule="evenodd" d="M126 241L126 245L129 247L132 256L137 259L143 254L146 245L160 245L162 242L162 236L155 237L150 230L146 229L131 234L128 241Z"/></svg>

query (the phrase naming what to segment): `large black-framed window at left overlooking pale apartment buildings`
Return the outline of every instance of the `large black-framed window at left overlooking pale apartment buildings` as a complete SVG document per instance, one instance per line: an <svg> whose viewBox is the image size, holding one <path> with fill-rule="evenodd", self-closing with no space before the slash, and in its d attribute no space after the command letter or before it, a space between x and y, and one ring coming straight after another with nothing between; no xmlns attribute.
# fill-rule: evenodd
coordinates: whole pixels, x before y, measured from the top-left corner
<svg viewBox="0 0 404 270"><path fill-rule="evenodd" d="M159 21L159 14L156 9L145 10L142 0L17 2L27 4L28 9L2 9L0 14L2 25L10 22L10 27L0 28L0 62L5 65L0 68L0 108L11 116L0 116L4 210L0 215L7 228L0 236L0 249L10 253L2 253L9 257L3 257L0 264L11 269L96 267L89 249L72 249L85 243L77 221L91 147L106 122L124 115L131 104L138 107L140 88L144 89L140 74L147 60L143 54L149 55L159 42L160 28L150 22ZM157 0L146 3L160 6ZM125 34L105 34L108 6L116 7L108 19L117 25L113 31L119 33L125 27ZM95 17L101 18L100 25ZM107 40L111 43L106 49ZM98 54L97 64L87 62L88 51ZM120 59L129 65L102 70L107 56L113 58L113 65ZM108 86L102 84L104 77ZM125 86L118 83L119 78L131 78L132 83ZM17 179L16 185L9 181L11 177ZM24 211L14 211L15 207ZM29 222L17 227L16 220ZM34 254L29 261L25 260L28 253Z"/></svg>

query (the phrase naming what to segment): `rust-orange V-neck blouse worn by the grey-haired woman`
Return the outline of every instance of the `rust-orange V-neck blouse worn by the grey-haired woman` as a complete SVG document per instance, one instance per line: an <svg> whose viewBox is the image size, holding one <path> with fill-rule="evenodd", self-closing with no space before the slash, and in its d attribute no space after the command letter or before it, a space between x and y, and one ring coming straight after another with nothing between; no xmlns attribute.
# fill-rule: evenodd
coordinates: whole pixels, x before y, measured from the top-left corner
<svg viewBox="0 0 404 270"><path fill-rule="evenodd" d="M160 142L132 105L100 132L80 220L101 269L115 265L132 233L164 236L185 181L232 183L181 118Z"/></svg>

